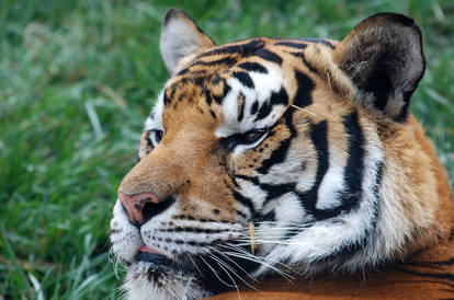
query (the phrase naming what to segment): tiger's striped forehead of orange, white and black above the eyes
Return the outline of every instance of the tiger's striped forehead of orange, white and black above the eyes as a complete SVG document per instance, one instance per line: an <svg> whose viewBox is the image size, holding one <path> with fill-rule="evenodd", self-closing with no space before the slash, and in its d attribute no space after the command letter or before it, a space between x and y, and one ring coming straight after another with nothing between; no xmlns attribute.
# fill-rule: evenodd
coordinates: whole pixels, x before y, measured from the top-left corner
<svg viewBox="0 0 454 300"><path fill-rule="evenodd" d="M216 124L218 137L274 125L302 81L303 88L314 88L307 67L298 67L310 44L333 47L324 39L253 38L194 55L167 82L147 129L162 123L164 111L172 118L179 113L188 117L189 111L205 115Z"/></svg>

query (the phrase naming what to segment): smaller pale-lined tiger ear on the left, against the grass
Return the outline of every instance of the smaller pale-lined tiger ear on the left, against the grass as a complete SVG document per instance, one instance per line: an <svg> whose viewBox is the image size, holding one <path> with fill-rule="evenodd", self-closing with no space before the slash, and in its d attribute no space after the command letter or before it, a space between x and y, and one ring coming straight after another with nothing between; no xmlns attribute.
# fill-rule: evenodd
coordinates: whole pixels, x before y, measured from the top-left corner
<svg viewBox="0 0 454 300"><path fill-rule="evenodd" d="M170 9L163 20L159 48L171 76L182 58L216 44L184 12Z"/></svg>

